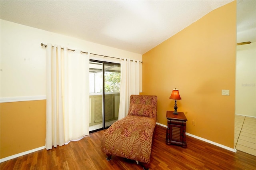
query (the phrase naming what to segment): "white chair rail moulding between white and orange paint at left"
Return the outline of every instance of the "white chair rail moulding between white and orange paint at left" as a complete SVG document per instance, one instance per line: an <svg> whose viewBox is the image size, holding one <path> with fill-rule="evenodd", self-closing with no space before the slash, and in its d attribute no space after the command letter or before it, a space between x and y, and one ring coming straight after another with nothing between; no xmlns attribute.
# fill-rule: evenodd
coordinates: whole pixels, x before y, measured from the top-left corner
<svg viewBox="0 0 256 170"><path fill-rule="evenodd" d="M20 97L1 97L0 103L18 102L18 101L34 101L34 100L46 100L44 96L20 96Z"/></svg>

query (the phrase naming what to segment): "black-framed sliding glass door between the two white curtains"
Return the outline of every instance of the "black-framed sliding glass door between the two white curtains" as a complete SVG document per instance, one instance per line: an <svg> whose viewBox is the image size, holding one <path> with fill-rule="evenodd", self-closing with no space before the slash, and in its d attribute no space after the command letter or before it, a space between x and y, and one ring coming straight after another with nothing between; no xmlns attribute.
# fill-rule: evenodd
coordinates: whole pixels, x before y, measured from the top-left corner
<svg viewBox="0 0 256 170"><path fill-rule="evenodd" d="M90 60L90 132L118 120L120 64ZM103 88L104 87L104 88Z"/></svg>

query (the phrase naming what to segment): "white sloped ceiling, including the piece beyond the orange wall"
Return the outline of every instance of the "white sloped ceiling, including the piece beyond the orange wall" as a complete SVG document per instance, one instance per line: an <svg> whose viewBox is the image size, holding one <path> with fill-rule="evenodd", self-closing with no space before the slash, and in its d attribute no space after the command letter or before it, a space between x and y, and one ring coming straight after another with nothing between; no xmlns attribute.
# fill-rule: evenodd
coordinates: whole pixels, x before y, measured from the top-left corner
<svg viewBox="0 0 256 170"><path fill-rule="evenodd" d="M230 2L1 0L0 18L143 54ZM255 42L255 2L238 1L238 42Z"/></svg>

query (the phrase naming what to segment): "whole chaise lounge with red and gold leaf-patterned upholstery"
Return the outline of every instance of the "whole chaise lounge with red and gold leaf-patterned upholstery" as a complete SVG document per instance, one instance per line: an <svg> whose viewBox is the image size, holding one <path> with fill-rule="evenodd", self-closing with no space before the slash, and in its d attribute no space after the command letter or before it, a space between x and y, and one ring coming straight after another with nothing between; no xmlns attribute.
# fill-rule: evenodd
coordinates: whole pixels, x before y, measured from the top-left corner
<svg viewBox="0 0 256 170"><path fill-rule="evenodd" d="M157 96L131 95L128 115L113 123L102 135L101 150L111 156L149 164Z"/></svg>

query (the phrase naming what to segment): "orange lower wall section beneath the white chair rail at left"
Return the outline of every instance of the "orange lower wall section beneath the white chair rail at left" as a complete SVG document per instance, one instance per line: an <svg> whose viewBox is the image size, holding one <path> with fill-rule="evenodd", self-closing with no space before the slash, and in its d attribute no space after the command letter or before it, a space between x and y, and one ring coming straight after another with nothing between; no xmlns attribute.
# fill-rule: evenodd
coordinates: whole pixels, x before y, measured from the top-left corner
<svg viewBox="0 0 256 170"><path fill-rule="evenodd" d="M45 145L46 100L0 103L0 158Z"/></svg>

